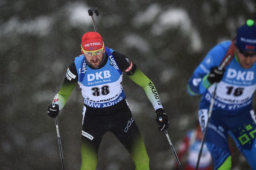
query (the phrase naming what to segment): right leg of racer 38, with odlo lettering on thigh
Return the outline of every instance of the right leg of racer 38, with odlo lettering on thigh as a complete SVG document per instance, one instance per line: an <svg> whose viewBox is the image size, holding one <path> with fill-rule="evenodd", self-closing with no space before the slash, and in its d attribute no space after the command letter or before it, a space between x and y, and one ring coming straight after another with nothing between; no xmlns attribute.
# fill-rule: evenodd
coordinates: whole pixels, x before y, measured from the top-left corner
<svg viewBox="0 0 256 170"><path fill-rule="evenodd" d="M131 115L130 108L125 108L114 116L111 132L125 146L135 163L136 170L149 170L149 156L142 135Z"/></svg>

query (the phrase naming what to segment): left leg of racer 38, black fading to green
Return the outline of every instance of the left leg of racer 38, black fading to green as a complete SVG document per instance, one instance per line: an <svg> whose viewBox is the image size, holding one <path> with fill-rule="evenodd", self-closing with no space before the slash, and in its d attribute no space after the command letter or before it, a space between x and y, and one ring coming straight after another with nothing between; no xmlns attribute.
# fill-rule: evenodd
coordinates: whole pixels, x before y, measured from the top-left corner
<svg viewBox="0 0 256 170"><path fill-rule="evenodd" d="M98 149L103 135L106 132L104 128L104 116L95 116L84 107L83 110L83 131L81 139L81 170L95 170L98 162Z"/></svg>

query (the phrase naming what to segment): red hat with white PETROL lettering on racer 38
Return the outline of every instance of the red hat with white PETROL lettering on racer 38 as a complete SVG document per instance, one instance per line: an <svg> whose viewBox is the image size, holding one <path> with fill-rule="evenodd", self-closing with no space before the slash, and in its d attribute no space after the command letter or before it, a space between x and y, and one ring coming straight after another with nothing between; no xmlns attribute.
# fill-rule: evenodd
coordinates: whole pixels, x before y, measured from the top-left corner
<svg viewBox="0 0 256 170"><path fill-rule="evenodd" d="M85 51L96 51L103 47L104 43L99 33L88 32L83 34L81 47ZM81 52L83 53L83 50Z"/></svg>

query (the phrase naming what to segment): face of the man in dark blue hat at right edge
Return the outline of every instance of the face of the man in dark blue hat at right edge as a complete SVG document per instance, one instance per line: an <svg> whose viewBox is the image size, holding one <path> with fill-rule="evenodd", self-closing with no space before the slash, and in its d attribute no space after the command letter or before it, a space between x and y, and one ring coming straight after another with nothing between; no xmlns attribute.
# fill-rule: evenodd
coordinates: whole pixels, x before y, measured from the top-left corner
<svg viewBox="0 0 256 170"><path fill-rule="evenodd" d="M252 56L246 56L247 54L254 54ZM239 51L239 49L237 48L237 58L240 62L240 65L244 68L244 69L249 69L252 67L252 65L254 64L254 62L256 61L256 53L255 52L249 52L249 51Z"/></svg>

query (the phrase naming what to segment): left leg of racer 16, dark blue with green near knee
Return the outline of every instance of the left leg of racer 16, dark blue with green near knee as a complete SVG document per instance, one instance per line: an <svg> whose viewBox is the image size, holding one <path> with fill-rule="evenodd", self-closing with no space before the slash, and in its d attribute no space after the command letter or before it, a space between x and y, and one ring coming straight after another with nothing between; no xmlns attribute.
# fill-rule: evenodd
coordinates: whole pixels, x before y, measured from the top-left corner
<svg viewBox="0 0 256 170"><path fill-rule="evenodd" d="M208 120L208 109L199 110L199 122L204 131ZM214 170L228 170L231 168L231 153L228 146L228 128L221 114L213 111L205 143L213 160Z"/></svg>

